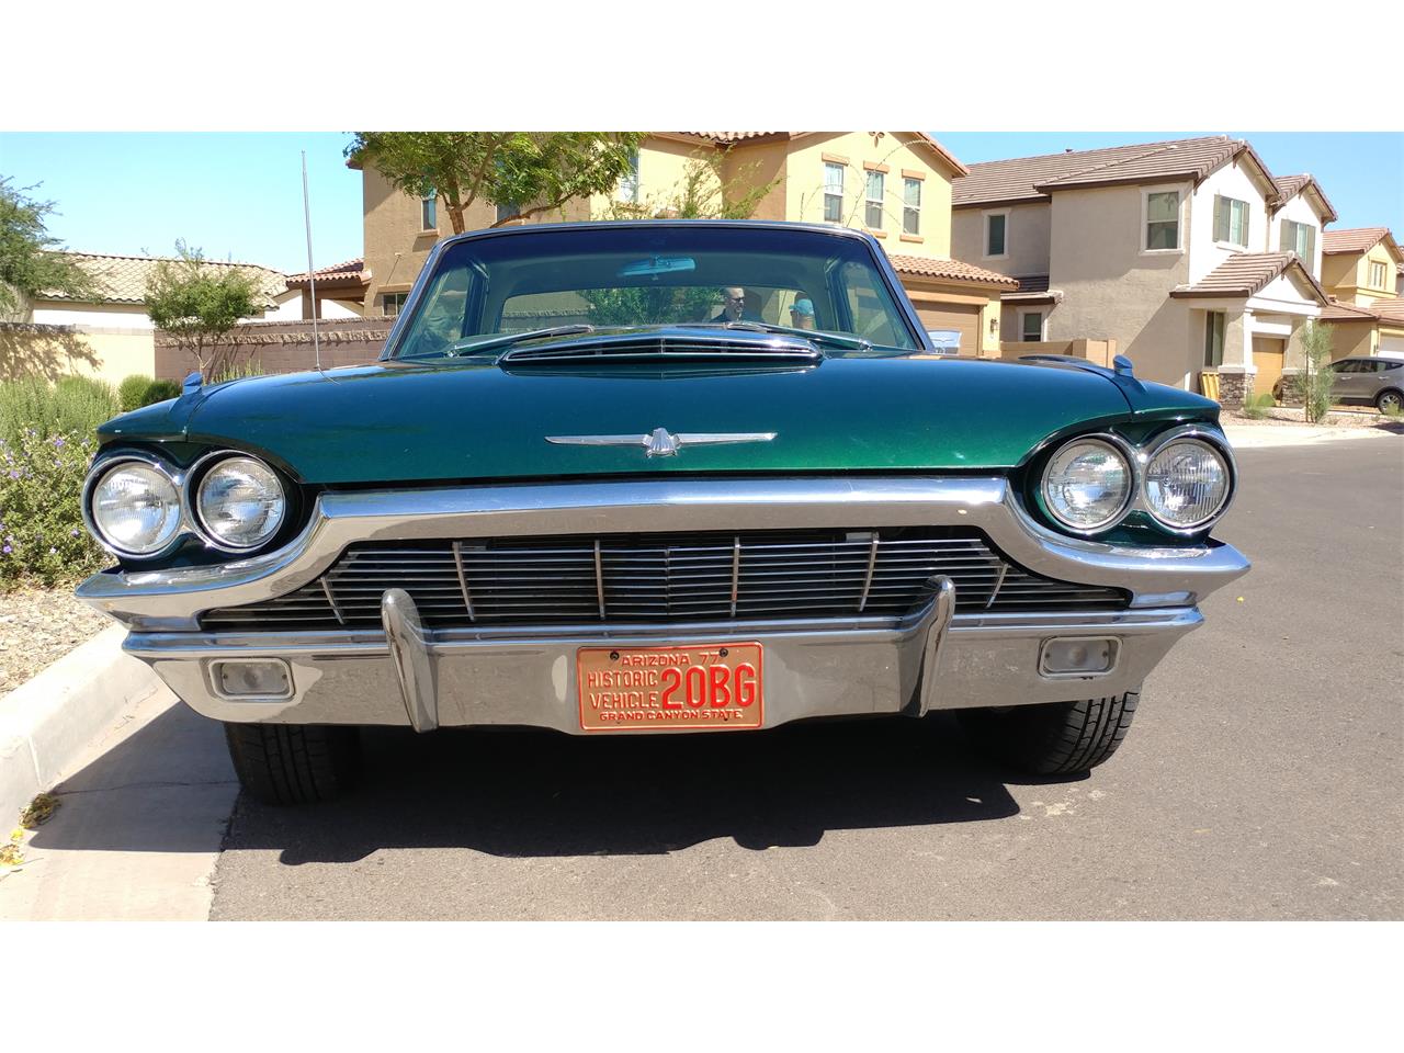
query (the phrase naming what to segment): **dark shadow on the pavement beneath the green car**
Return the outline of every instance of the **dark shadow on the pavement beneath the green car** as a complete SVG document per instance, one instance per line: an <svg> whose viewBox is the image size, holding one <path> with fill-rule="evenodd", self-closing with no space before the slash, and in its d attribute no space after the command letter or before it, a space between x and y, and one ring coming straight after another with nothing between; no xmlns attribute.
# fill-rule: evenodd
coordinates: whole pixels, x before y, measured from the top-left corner
<svg viewBox="0 0 1404 1053"><path fill-rule="evenodd" d="M219 724L177 705L65 786L161 782L152 751L174 733L223 737ZM673 737L368 729L362 741L365 774L352 792L303 807L241 795L225 848L275 849L288 865L352 862L380 848L507 858L664 854L719 837L764 849L814 845L830 830L969 823L1019 810L1005 789L1008 772L973 753L943 713ZM208 765L216 767L215 757ZM198 785L184 768L183 779ZM227 767L208 778L227 779ZM58 824L41 830L35 847L181 851L173 842L178 828Z"/></svg>

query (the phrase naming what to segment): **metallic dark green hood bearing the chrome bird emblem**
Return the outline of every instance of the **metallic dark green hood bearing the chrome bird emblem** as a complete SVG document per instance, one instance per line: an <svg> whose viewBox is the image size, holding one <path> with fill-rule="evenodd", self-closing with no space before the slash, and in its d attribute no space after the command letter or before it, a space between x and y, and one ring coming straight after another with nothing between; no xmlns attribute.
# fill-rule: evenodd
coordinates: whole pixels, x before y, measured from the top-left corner
<svg viewBox="0 0 1404 1053"><path fill-rule="evenodd" d="M227 446L313 484L670 472L1008 469L1050 438L1137 416L1213 418L1198 396L1077 368L942 357L817 364L503 368L379 362L205 388L102 425L119 441ZM649 456L643 437L775 432ZM548 437L637 435L633 446Z"/></svg>

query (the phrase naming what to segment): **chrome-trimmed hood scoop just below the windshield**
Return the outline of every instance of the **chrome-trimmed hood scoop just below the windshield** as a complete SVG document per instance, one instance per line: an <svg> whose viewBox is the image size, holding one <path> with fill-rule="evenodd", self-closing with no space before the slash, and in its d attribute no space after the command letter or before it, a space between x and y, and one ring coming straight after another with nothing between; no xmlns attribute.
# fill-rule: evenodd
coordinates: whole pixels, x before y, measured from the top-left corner
<svg viewBox="0 0 1404 1053"><path fill-rule="evenodd" d="M518 347L497 359L500 366L525 365L602 365L607 362L639 362L649 365L691 364L691 362L774 362L793 366L795 364L816 364L823 352L807 340L776 337L761 338L734 336L709 336L703 333L681 337L658 336L604 336L585 340L571 340L567 345Z"/></svg>

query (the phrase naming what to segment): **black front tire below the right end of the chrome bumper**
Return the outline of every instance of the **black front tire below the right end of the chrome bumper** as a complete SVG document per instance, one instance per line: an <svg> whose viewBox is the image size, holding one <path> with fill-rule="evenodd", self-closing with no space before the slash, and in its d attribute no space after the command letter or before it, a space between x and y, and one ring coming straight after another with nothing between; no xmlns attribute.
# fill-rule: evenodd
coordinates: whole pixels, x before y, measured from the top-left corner
<svg viewBox="0 0 1404 1053"><path fill-rule="evenodd" d="M1078 775L1122 744L1140 691L1078 702L962 709L960 724L986 754L1035 775Z"/></svg>

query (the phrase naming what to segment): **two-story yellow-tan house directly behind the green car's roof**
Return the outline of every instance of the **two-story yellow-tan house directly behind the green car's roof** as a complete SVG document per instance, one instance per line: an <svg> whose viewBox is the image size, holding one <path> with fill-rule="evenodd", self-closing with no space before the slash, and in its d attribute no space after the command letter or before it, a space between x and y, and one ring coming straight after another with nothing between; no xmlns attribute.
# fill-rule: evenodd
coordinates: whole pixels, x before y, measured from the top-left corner
<svg viewBox="0 0 1404 1053"><path fill-rule="evenodd" d="M569 202L535 222L665 213L699 161L733 195L765 192L755 219L837 223L870 232L887 250L928 330L949 350L998 357L1000 293L1016 282L993 268L952 260L951 188L966 168L925 132L650 132L633 173L611 197ZM695 168L694 168L695 170ZM362 167L366 314L393 314L434 241L451 232L446 211L395 190ZM477 202L469 229L511 215Z"/></svg>

